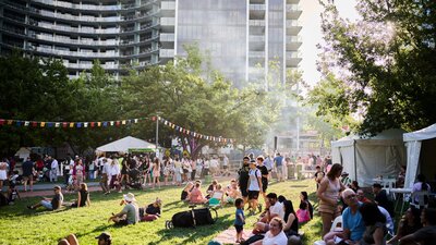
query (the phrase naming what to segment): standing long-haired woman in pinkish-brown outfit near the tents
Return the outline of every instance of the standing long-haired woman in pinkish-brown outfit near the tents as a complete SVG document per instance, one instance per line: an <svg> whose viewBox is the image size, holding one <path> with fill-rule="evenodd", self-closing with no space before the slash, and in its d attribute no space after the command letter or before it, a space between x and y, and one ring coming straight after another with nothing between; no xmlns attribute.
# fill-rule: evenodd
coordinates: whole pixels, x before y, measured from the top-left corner
<svg viewBox="0 0 436 245"><path fill-rule="evenodd" d="M341 173L341 164L335 163L331 166L330 171L323 179L316 192L319 198L318 212L323 220L323 236L330 231L331 221L339 215L339 193L344 189L343 184L339 181Z"/></svg>

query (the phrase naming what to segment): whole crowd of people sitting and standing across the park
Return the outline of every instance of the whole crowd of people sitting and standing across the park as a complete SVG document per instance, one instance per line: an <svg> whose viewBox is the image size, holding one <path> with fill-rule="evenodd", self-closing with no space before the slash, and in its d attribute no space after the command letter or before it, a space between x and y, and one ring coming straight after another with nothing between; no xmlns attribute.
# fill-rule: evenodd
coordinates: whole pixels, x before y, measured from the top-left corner
<svg viewBox="0 0 436 245"><path fill-rule="evenodd" d="M314 181L316 185L317 208L308 199L307 192L301 192L299 205L294 209L292 200L284 195L268 193L271 173L275 170L277 181L283 181L281 174L288 166L286 158L277 154L275 158L246 156L243 158L241 168L238 170L238 179L228 183L219 183L214 180L203 192L202 181L197 175L227 175L228 168L216 169L216 163L208 159L191 160L190 158L165 157L162 160L152 156L110 156L96 157L92 163L84 163L85 159L76 157L66 159L64 164L65 187L77 193L77 198L70 201L71 207L89 207L90 195L85 180L99 176L102 193L111 191L122 192L122 188L130 189L136 185L140 188L148 185L160 187L161 176L164 185L171 183L181 188L181 201L194 205L235 207L234 228L237 230L235 242L240 244L301 244L299 226L311 222L314 215L318 213L322 220L322 236L324 242L329 244L432 244L436 241L435 209L420 207L417 200L412 199L411 206L395 225L395 208L386 189L378 183L374 183L371 193L359 186L356 181L343 172L339 163L331 164L328 159L318 162L318 158L308 158L310 164L316 162L314 169ZM226 160L228 166L228 159ZM49 181L56 182L58 161L50 156L44 158L44 167L49 170ZM55 162L55 163L53 163ZM197 166L201 166L198 168ZM317 164L319 163L319 164ZM14 180L16 173L8 170L10 163L0 163L0 176ZM40 168L37 161L31 158L22 164L24 182L28 182L29 191L33 189L33 180ZM56 170L53 170L56 169ZM279 170L281 169L281 171ZM43 169L44 170L44 169ZM197 171L199 174L197 174ZM9 176L8 176L9 175ZM401 179L401 173L399 179ZM4 181L4 180L3 180ZM16 177L15 180L16 181ZM20 197L14 181L9 181L9 194ZM399 180L401 183L401 180ZM24 186L27 189L27 185ZM413 186L413 192L431 191L425 182L425 176L420 174ZM29 205L29 209L44 207L48 210L57 210L65 206L62 188L59 185L53 187L51 198L44 197L40 201ZM141 221L154 221L161 215L162 200L155 201L140 207L134 194L123 195L120 206L122 210L108 217L109 222L116 225L135 224ZM244 237L245 212L247 216L258 216L252 229L252 236ZM334 220L341 216L342 229L340 231L331 228ZM397 226L397 229L395 229ZM250 228L251 230L251 228ZM102 233L102 244L110 244L111 236ZM101 238L99 237L99 238ZM100 241L100 240L99 240ZM59 244L78 244L76 237L71 234Z"/></svg>

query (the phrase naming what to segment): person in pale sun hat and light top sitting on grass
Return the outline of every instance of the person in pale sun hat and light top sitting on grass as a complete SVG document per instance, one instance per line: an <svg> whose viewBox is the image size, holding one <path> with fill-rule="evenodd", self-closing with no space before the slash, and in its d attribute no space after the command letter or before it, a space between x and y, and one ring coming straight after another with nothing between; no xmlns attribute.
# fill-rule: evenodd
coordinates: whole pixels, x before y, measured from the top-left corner
<svg viewBox="0 0 436 245"><path fill-rule="evenodd" d="M123 197L120 205L125 204L124 208L117 215L112 213L108 222L113 221L118 225L135 224L140 221L140 210L136 205L135 195L128 193Z"/></svg>

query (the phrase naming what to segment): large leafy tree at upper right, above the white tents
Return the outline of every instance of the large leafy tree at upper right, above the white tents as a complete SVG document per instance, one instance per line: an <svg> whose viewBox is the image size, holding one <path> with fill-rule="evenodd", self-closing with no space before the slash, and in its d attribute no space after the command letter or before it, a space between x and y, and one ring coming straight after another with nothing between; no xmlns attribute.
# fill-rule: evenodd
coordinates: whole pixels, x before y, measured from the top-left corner
<svg viewBox="0 0 436 245"><path fill-rule="evenodd" d="M324 82L311 93L318 114L363 117L362 134L435 123L436 2L362 0L355 22L320 2Z"/></svg>

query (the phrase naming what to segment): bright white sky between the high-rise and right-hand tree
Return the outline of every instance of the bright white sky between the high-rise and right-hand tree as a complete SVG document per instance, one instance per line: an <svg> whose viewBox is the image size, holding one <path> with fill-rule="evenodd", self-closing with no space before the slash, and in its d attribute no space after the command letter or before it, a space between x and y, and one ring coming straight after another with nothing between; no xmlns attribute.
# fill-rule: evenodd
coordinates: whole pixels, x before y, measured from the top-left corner
<svg viewBox="0 0 436 245"><path fill-rule="evenodd" d="M358 12L354 9L355 3L356 0L335 0L340 15L350 20L358 17ZM318 3L318 0L301 0L300 5L303 10L300 16L300 24L303 26L300 32L303 39L303 45L300 47L303 58L300 69L303 71L303 79L313 86L320 78L320 74L316 70L316 60L319 52L316 45L322 42L323 39L319 16L323 8Z"/></svg>

